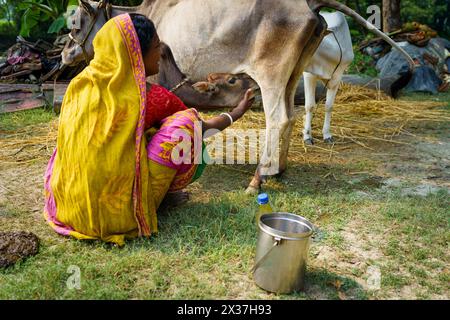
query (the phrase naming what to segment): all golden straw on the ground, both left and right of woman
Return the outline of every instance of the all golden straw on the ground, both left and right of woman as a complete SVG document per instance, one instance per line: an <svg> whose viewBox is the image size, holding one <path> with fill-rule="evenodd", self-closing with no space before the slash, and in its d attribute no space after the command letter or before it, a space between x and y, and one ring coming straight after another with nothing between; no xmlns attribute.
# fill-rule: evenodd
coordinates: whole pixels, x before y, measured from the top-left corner
<svg viewBox="0 0 450 320"><path fill-rule="evenodd" d="M304 110L298 107L289 160L301 163L330 160L346 149L358 147L375 150L377 142L407 144L401 141L400 137L414 136L408 129L411 126L450 120L448 113L439 108L441 106L442 103L434 101L394 100L381 92L343 84L336 98L331 122L335 144L327 145L322 142L324 107L321 102L316 108L313 120L316 145L306 147L302 138ZM204 118L218 113L204 114ZM234 129L264 127L264 113L256 110L247 112L233 126ZM18 165L47 161L55 147L56 134L57 120L15 131L0 128L0 163ZM246 146L248 147L248 143Z"/></svg>

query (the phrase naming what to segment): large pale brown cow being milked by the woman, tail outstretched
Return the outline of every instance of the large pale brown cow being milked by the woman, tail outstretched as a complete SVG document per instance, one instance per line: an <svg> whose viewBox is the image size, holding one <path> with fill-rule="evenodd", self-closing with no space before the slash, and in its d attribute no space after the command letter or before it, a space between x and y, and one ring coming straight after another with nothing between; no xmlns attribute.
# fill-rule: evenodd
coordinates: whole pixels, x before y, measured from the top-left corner
<svg viewBox="0 0 450 320"><path fill-rule="evenodd" d="M193 81L201 81L211 72L248 74L256 81L266 116L266 141L248 189L252 192L258 190L264 176L281 174L287 167L296 88L325 35L326 22L318 14L322 7L351 16L414 64L389 37L334 0L144 0L129 9L111 8L106 0L80 0L80 4L94 25L89 28L91 24L87 24L84 34L72 35L77 40L66 47L65 63L86 57L105 19L126 10L153 20L177 65Z"/></svg>

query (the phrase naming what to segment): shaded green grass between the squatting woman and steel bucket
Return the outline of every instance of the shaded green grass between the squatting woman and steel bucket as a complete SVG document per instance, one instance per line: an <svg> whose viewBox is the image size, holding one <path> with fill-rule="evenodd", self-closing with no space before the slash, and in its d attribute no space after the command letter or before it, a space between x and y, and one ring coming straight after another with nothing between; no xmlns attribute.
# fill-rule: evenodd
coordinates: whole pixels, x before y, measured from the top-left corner
<svg viewBox="0 0 450 320"><path fill-rule="evenodd" d="M247 203L253 199L242 199ZM237 200L236 200L237 201ZM239 206L233 199L191 202L158 215L159 233L150 241L128 241L133 250L149 249L165 254L185 252L197 256L223 250L254 248L257 227L250 206ZM249 257L250 258L250 257Z"/></svg>

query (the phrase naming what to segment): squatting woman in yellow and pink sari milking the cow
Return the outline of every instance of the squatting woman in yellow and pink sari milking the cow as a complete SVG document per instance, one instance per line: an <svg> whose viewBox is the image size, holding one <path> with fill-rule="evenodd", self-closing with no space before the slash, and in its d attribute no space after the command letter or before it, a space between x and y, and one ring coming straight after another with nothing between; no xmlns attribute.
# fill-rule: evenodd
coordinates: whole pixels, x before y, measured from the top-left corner
<svg viewBox="0 0 450 320"><path fill-rule="evenodd" d="M93 45L94 59L64 96L45 175L44 214L59 234L123 245L126 238L156 233L156 211L166 192L179 191L200 174L198 164L174 163L171 134L181 130L192 138L201 119L159 86L146 92L146 77L158 73L159 61L150 20L115 17ZM201 121L202 132L232 124L250 107L250 96L230 114ZM160 129L147 145L144 132L153 126Z"/></svg>

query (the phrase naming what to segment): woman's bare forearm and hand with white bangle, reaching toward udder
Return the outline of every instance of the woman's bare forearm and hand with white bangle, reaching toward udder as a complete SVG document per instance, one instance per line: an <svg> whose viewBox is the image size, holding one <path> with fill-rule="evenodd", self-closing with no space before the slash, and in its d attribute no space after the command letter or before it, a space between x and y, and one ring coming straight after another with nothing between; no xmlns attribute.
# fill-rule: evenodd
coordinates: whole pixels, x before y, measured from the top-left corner
<svg viewBox="0 0 450 320"><path fill-rule="evenodd" d="M253 90L252 89L247 90L244 98L241 100L241 102L239 102L237 107L228 113L231 116L231 118L233 119L233 122L240 119L247 112L247 110L250 109L254 100L255 100L255 97L254 97ZM231 119L228 116L220 115L220 116L211 118L207 121L203 121L202 122L202 131L203 131L203 133L205 133L208 130L212 130L212 129L222 131L222 130L228 128L231 124L232 124ZM214 133L217 133L217 132L214 132ZM207 134L203 138L208 138L212 135L213 134Z"/></svg>

